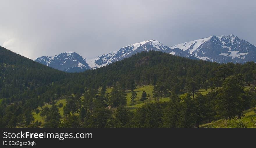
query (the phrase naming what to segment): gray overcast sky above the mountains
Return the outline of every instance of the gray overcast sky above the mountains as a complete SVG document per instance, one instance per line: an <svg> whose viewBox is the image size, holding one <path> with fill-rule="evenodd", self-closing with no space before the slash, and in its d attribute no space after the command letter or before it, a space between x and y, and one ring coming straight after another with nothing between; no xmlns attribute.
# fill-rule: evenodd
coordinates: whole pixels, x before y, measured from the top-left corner
<svg viewBox="0 0 256 148"><path fill-rule="evenodd" d="M35 59L93 58L157 39L171 46L235 34L256 45L255 0L0 0L0 45Z"/></svg>

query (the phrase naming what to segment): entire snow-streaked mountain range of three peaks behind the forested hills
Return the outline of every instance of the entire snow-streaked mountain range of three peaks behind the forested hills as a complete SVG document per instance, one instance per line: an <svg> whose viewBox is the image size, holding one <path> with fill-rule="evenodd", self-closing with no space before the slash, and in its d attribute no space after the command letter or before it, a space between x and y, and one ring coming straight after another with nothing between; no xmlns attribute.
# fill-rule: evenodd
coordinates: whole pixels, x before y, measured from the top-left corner
<svg viewBox="0 0 256 148"><path fill-rule="evenodd" d="M236 35L211 36L173 46L166 46L157 40L131 44L117 51L84 59L75 52L55 56L42 56L35 61L66 72L81 72L99 68L120 61L142 51L155 50L190 59L202 59L218 63L245 63L256 60L256 47Z"/></svg>

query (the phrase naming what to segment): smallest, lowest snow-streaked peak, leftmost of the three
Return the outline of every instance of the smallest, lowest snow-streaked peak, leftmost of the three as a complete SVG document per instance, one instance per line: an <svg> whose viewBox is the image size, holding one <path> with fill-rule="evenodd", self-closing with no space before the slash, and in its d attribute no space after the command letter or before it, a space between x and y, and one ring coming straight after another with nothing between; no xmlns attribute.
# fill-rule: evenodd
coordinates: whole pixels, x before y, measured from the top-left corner
<svg viewBox="0 0 256 148"><path fill-rule="evenodd" d="M55 56L38 57L36 62L65 72L82 72L91 69L79 54L75 52L65 52Z"/></svg>

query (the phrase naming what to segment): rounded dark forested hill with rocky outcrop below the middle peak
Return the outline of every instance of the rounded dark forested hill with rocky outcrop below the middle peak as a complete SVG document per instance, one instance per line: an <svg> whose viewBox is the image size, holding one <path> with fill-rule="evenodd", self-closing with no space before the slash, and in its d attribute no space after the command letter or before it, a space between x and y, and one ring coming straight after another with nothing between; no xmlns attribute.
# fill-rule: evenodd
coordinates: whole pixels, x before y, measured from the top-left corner
<svg viewBox="0 0 256 148"><path fill-rule="evenodd" d="M213 77L213 70L220 64L170 55L156 51L142 52L93 71L79 73L79 84L112 86L115 82L134 81L137 84L156 84L158 81L175 82L193 79L205 81Z"/></svg>

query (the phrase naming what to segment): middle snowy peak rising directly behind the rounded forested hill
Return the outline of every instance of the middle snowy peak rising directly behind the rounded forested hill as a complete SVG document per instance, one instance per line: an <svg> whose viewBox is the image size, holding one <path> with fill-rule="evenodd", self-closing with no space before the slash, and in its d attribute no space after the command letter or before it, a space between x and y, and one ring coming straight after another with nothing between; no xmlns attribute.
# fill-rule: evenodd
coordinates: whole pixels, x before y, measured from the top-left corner
<svg viewBox="0 0 256 148"><path fill-rule="evenodd" d="M160 43L157 40L148 40L148 41L143 41L143 42L136 43L136 44L131 44L129 46L125 46L115 52L98 56L94 59L88 60L87 62L91 68L98 68L101 66L109 65L110 63L115 62L115 61L120 61L124 58L130 57L133 54L140 53L142 51L148 51L148 50L155 50L155 51L161 51L161 52L166 52L166 53L172 52L172 54L174 54L174 55L179 54L179 56L184 56L184 57L192 56L182 50L176 51L178 49L175 49L175 51L176 51L175 52L174 50L171 50L168 46Z"/></svg>

